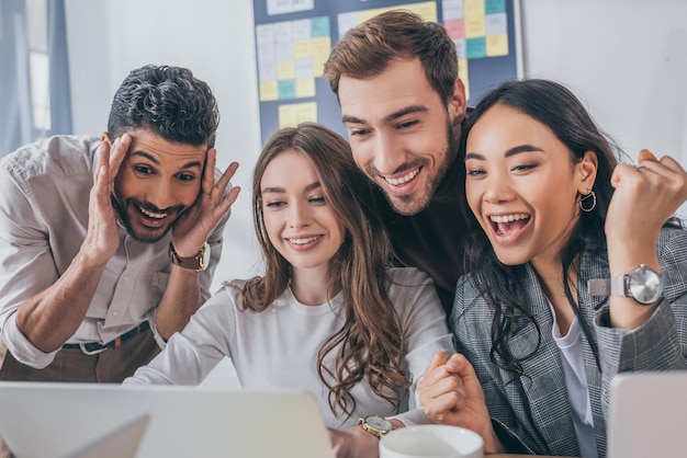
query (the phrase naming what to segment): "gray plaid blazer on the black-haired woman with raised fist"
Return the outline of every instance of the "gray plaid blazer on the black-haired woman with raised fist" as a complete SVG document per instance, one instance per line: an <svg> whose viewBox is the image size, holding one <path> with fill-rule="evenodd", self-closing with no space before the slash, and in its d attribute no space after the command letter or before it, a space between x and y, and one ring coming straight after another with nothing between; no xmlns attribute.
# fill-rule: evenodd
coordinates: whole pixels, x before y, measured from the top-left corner
<svg viewBox="0 0 687 458"><path fill-rule="evenodd" d="M587 279L609 277L608 260L590 252L582 254L577 283L579 307L583 319L592 323L601 367L599 370L589 342L583 336L599 457L607 454L605 419L612 376L633 370L687 369L687 230L663 229L657 253L665 299L650 320L633 331L605 325L607 298L590 297ZM531 265L527 266L519 285L529 298L528 306L541 330L538 336L536 327L523 321L509 339L516 356L532 352L541 339L534 355L522 362L526 376L513 380L513 374L492 363L494 313L478 295L470 275L458 282L450 318L457 351L474 366L497 432L505 432L511 443L513 439L519 442L520 451L525 448L537 455L579 456L561 355L551 333L553 317Z"/></svg>

